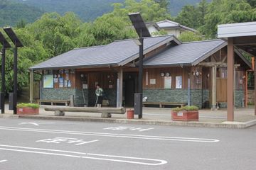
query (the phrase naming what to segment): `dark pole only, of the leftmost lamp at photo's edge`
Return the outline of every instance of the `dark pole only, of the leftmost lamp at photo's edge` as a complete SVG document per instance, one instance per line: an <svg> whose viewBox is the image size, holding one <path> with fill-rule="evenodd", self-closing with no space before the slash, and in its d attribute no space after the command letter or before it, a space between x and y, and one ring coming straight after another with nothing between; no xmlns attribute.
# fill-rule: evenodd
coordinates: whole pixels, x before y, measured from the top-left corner
<svg viewBox="0 0 256 170"><path fill-rule="evenodd" d="M4 114L4 98L5 98L5 52L6 49L2 49L2 63L1 63L1 113Z"/></svg>

